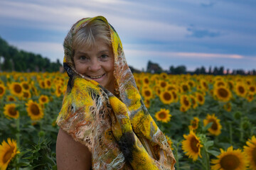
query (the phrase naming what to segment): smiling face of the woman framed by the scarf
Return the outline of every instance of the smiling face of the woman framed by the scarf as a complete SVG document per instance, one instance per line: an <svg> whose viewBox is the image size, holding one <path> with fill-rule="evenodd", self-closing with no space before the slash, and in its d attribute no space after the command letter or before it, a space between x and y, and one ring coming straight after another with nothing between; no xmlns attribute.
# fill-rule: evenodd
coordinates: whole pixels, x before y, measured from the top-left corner
<svg viewBox="0 0 256 170"><path fill-rule="evenodd" d="M95 45L77 47L74 55L75 70L97 81L114 93L114 54L112 47L102 39L95 39Z"/></svg>

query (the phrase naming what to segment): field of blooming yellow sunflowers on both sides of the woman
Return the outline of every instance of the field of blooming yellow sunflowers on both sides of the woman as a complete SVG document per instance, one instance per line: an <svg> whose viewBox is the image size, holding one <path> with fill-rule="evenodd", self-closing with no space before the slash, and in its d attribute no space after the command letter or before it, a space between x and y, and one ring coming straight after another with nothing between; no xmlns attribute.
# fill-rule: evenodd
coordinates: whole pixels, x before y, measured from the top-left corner
<svg viewBox="0 0 256 170"><path fill-rule="evenodd" d="M256 169L256 77L134 74L176 169ZM68 76L0 73L0 169L57 169Z"/></svg>

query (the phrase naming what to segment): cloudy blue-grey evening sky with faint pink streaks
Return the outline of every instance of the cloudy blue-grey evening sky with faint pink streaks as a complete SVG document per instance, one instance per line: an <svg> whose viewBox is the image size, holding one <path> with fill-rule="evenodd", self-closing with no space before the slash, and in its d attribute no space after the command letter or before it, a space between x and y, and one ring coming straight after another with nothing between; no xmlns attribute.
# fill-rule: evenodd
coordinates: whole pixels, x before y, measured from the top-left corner
<svg viewBox="0 0 256 170"><path fill-rule="evenodd" d="M129 65L256 69L255 0L1 0L0 36L63 60L63 40L80 18L105 16Z"/></svg>

